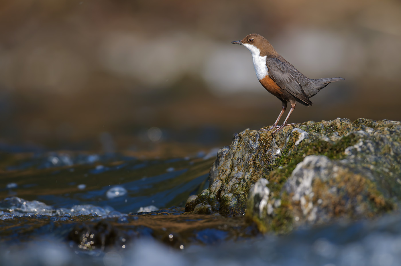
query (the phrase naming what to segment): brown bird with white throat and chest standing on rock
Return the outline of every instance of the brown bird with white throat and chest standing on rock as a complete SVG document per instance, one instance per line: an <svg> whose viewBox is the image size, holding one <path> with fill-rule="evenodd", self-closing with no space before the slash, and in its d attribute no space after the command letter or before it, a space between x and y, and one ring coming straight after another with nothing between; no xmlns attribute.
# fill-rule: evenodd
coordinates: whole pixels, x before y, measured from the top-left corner
<svg viewBox="0 0 401 266"><path fill-rule="evenodd" d="M245 46L252 54L253 67L257 79L261 85L280 101L282 111L271 128L275 132L288 124L288 119L295 109L296 102L306 106L312 105L310 97L316 95L321 89L334 81L342 81L344 78L309 79L279 55L268 40L260 34L249 34L242 40L231 42ZM278 126L278 122L287 109L290 102L291 109L284 123ZM261 129L265 131L266 129Z"/></svg>

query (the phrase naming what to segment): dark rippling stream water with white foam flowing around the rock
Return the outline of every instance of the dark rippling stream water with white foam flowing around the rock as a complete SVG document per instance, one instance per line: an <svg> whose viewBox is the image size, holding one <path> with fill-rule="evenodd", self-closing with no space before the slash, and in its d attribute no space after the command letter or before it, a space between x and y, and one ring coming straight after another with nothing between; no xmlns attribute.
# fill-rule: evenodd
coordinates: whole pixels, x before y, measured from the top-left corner
<svg viewBox="0 0 401 266"><path fill-rule="evenodd" d="M263 236L244 217L183 215L214 155L2 153L0 263L399 265L399 214L287 236Z"/></svg>

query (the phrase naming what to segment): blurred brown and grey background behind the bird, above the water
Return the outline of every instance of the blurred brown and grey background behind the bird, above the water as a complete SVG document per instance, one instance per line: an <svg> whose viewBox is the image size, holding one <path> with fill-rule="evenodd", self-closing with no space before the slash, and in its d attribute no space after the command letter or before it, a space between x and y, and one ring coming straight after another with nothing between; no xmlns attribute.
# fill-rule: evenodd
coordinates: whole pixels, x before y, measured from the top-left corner
<svg viewBox="0 0 401 266"><path fill-rule="evenodd" d="M230 44L250 33L307 77L346 79L297 105L290 123L401 120L398 0L1 0L0 146L229 145L281 111L249 51Z"/></svg>

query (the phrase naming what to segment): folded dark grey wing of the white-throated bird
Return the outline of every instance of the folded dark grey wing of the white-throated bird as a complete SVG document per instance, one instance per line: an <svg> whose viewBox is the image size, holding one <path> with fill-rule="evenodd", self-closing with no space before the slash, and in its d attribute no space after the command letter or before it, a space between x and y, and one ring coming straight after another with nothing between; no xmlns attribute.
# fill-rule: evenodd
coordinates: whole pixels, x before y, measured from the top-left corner
<svg viewBox="0 0 401 266"><path fill-rule="evenodd" d="M280 88L288 91L304 103L308 105L312 104L300 85L298 79L300 73L292 65L283 63L277 58L270 57L266 59L266 66L268 69L267 71L269 71L269 77L275 81Z"/></svg>

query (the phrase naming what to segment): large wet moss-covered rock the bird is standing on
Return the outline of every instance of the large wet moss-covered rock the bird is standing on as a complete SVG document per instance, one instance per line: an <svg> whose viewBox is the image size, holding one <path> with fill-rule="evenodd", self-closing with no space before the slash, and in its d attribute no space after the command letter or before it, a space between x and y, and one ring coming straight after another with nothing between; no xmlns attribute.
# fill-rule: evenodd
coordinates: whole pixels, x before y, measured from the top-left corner
<svg viewBox="0 0 401 266"><path fill-rule="evenodd" d="M288 232L338 219L371 218L401 199L401 122L335 119L246 129L219 150L210 187L188 199L262 231Z"/></svg>

